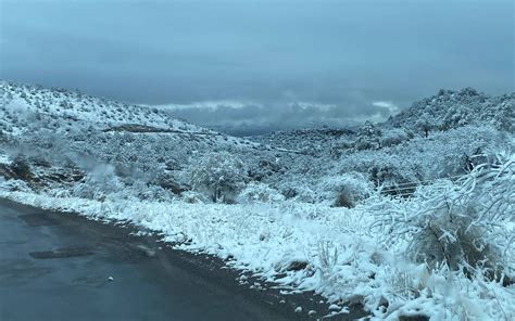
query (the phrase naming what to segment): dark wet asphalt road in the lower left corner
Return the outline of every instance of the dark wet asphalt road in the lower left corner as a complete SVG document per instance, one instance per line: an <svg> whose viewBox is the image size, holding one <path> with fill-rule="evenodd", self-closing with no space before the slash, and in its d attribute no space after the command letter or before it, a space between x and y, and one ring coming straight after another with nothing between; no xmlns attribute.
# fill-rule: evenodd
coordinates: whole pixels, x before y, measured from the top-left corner
<svg viewBox="0 0 515 321"><path fill-rule="evenodd" d="M0 200L0 320L290 319L128 233Z"/></svg>

